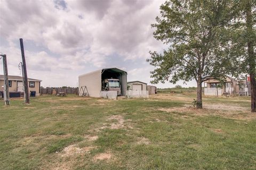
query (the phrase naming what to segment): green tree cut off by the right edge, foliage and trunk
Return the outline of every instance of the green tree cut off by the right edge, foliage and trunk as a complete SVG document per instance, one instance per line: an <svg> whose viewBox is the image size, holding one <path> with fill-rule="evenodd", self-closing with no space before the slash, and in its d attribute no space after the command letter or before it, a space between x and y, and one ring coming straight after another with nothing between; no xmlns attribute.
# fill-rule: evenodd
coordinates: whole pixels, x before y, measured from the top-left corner
<svg viewBox="0 0 256 170"><path fill-rule="evenodd" d="M256 112L256 1L239 0L234 19L228 24L230 43L227 55L233 65L226 67L230 74L250 75L251 111Z"/></svg>

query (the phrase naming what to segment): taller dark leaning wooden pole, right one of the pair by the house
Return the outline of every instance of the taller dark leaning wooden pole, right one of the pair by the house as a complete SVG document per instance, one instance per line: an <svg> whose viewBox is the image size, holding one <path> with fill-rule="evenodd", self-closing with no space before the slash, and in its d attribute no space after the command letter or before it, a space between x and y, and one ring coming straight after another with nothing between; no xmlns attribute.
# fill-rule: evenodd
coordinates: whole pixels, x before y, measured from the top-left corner
<svg viewBox="0 0 256 170"><path fill-rule="evenodd" d="M26 102L25 104L29 104L29 92L28 92L28 75L27 75L27 66L25 60L25 53L23 47L23 39L20 38L20 50L21 50L21 57L22 57L22 66L23 66L23 82L24 82L24 95L26 95Z"/></svg>

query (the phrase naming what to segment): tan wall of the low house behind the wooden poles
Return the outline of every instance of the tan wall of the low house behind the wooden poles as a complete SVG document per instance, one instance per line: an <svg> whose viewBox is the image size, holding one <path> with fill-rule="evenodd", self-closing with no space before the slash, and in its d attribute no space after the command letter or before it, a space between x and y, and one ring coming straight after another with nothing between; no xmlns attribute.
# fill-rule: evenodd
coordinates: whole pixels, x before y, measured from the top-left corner
<svg viewBox="0 0 256 170"><path fill-rule="evenodd" d="M18 81L17 80L10 80L12 81L12 87L9 87L9 92L17 92L17 84ZM22 82L22 81L20 81ZM40 96L40 82L39 81L31 81L31 82L35 82L35 87L29 87L29 82L28 81L28 91L36 91L36 96ZM3 91L4 89L2 88L2 86L4 86L4 80L0 80L0 91Z"/></svg>

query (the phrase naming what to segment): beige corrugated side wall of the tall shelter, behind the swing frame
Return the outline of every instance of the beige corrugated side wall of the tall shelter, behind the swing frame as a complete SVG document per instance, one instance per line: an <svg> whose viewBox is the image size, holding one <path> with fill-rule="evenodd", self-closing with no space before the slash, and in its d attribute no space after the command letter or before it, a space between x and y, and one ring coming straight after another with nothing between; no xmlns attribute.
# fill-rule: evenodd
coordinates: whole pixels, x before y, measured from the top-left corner
<svg viewBox="0 0 256 170"><path fill-rule="evenodd" d="M90 97L100 97L101 91L101 70L83 74L78 77L79 90L86 86ZM82 95L82 94L79 94Z"/></svg>

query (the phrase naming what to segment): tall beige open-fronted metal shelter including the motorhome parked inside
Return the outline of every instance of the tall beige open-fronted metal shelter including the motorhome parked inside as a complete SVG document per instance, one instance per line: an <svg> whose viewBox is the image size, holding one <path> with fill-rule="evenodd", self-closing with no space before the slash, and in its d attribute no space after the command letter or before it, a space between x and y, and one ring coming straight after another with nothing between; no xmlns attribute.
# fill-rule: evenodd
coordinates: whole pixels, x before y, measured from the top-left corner
<svg viewBox="0 0 256 170"><path fill-rule="evenodd" d="M125 96L127 72L117 69L100 69L78 77L79 96L105 97L115 99Z"/></svg>

